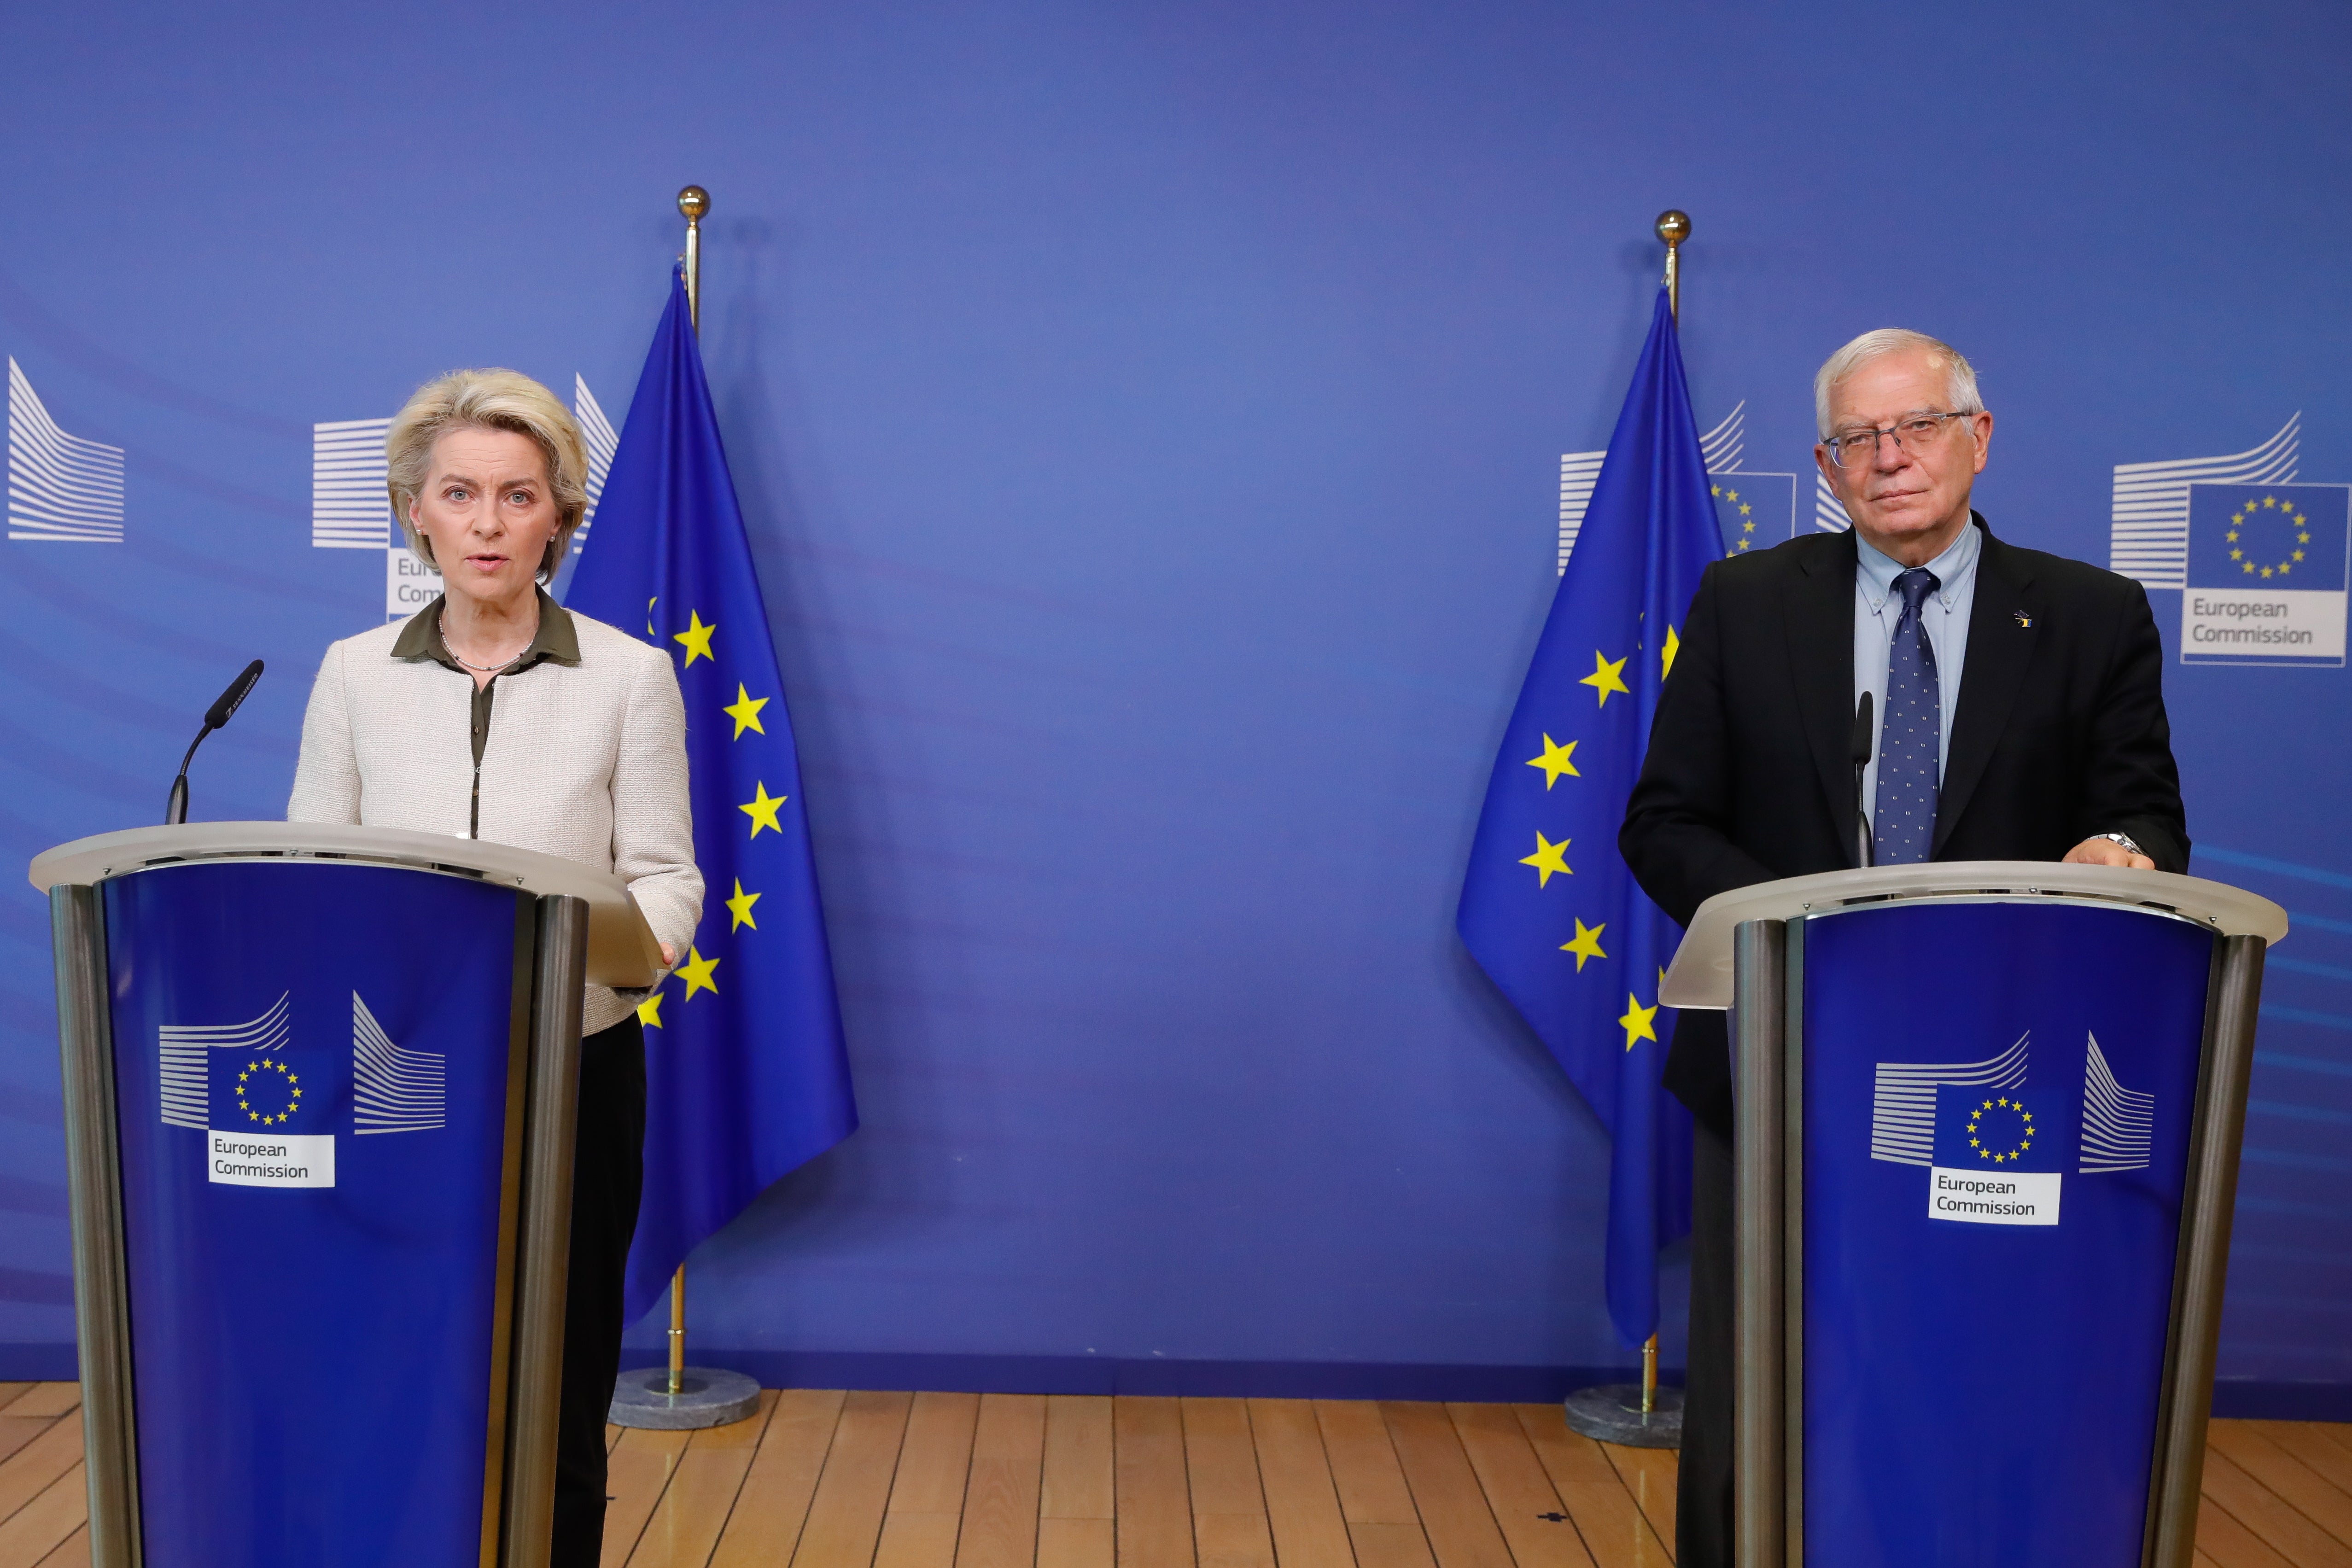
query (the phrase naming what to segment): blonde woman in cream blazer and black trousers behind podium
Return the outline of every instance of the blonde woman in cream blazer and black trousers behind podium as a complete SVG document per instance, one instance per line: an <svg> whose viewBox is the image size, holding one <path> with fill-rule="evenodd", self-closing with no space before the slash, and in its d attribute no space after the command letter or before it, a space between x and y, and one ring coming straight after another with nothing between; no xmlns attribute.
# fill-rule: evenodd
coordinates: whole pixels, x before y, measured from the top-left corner
<svg viewBox="0 0 2352 1568"><path fill-rule="evenodd" d="M588 508L579 425L529 376L452 371L400 409L386 458L393 515L442 574L442 597L327 646L287 820L447 832L614 872L675 964L703 907L677 672L543 588ZM644 1175L637 1011L590 985L583 1032L555 1568L600 1554L604 1413Z"/></svg>

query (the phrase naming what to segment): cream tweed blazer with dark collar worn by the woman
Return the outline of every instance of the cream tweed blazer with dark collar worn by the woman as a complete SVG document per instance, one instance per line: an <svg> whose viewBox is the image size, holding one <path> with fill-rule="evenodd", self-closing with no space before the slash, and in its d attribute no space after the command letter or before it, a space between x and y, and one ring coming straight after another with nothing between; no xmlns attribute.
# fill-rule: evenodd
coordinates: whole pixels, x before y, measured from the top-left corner
<svg viewBox="0 0 2352 1568"><path fill-rule="evenodd" d="M501 675L482 748L482 837L614 872L680 954L703 917L687 804L687 708L670 658L572 614L576 665ZM289 823L466 835L473 809L473 677L393 658L405 623L327 644L301 722ZM590 985L581 1027L635 1011Z"/></svg>

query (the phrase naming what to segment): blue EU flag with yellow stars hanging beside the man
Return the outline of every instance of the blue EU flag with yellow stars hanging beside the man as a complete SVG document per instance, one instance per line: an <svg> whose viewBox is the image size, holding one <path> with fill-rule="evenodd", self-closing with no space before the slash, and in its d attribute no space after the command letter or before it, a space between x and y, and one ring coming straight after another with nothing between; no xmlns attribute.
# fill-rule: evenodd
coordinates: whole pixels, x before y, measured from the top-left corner
<svg viewBox="0 0 2352 1568"><path fill-rule="evenodd" d="M1658 1086L1679 929L1616 851L1698 574L1722 555L1665 292L1503 733L1463 879L1470 957L1609 1128L1609 1316L1658 1326L1658 1248L1691 1227L1691 1119Z"/></svg>

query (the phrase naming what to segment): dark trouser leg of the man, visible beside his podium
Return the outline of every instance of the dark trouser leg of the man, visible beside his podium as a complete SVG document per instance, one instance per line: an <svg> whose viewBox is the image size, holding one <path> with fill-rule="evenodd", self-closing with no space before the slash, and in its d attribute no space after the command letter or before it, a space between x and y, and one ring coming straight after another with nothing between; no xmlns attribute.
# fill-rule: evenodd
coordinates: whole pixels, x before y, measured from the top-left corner
<svg viewBox="0 0 2352 1568"><path fill-rule="evenodd" d="M1691 1128L1691 1354L1682 1373L1675 1563L1731 1568L1731 1145Z"/></svg>

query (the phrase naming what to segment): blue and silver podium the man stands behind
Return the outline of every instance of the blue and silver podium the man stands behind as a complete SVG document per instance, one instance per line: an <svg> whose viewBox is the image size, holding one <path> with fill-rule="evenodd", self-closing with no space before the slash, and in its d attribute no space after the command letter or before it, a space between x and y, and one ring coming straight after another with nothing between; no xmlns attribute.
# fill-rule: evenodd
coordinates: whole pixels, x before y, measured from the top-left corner
<svg viewBox="0 0 2352 1568"><path fill-rule="evenodd" d="M1700 905L1740 1568L2187 1568L2274 903L2100 865Z"/></svg>

